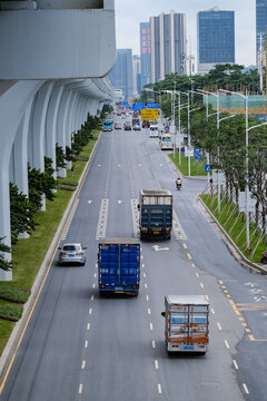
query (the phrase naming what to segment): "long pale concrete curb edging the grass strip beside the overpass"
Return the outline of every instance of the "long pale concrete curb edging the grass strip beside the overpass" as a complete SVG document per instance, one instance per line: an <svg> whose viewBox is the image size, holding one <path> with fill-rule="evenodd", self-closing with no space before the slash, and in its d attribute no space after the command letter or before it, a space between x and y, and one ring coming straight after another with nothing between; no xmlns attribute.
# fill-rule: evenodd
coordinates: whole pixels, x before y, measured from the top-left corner
<svg viewBox="0 0 267 401"><path fill-rule="evenodd" d="M2 391L2 384L3 384L3 380L4 380L4 375L7 374L8 372L8 369L9 369L9 365L10 365L10 362L14 359L16 356L16 353L20 346L20 342L22 340L22 334L23 332L26 331L26 327L27 327L27 324L28 322L30 321L30 317L31 317L31 313L32 313L32 307L39 296L39 291L41 288L41 285L43 283L43 280L46 278L46 274L48 272L48 267L49 267L49 262L51 261L51 257L53 256L53 254L56 253L56 250L57 250L57 245L60 241L60 237L61 237L61 232L65 227L65 224L69 217L69 214L70 214L70 211L72 209L72 206L77 199L77 197L79 196L79 192L80 192L80 186L81 186L81 183L82 180L85 179L86 175L88 174L88 170L92 164L92 160L95 158L95 155L97 153L97 148L98 148L98 145L100 143L100 139L102 137L102 131L100 131L99 134L99 137L92 148L92 151L90 154L90 157L89 157L89 160L87 162L86 164L86 167L80 176L80 179L78 182L78 185L77 185L77 188L76 190L73 192L71 198L70 198L70 202L65 211L65 214L63 214L63 217L58 226L58 229L53 236L53 239L49 246L49 250L44 256L44 260L40 266L40 270L36 276L36 280L34 280L34 283L31 287L31 294L29 296L29 300L27 301L27 303L23 305L23 313L22 313L22 316L21 319L16 323L11 334L10 334L10 338L7 342L7 345L1 354L1 358L0 358L0 394L1 394L1 391Z"/></svg>

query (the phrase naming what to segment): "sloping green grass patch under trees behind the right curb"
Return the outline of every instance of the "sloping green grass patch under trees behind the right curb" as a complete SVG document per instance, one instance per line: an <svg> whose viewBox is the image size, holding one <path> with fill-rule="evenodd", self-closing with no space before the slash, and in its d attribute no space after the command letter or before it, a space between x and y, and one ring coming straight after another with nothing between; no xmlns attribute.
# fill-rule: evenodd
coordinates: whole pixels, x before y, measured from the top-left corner
<svg viewBox="0 0 267 401"><path fill-rule="evenodd" d="M226 200L221 200L220 214L218 213L218 198L217 196L211 199L210 195L200 195L200 198L205 205L210 209L220 225L225 228L227 234L241 251L241 253L251 262L259 263L263 252L266 250L266 244L263 241L259 242L261 232L258 229L256 233L256 225L254 222L250 223L250 245L251 251L247 250L246 246L246 221L244 215L238 215L235 209L235 204L229 205ZM258 244L259 242L259 244ZM257 247L257 248L256 248Z"/></svg>

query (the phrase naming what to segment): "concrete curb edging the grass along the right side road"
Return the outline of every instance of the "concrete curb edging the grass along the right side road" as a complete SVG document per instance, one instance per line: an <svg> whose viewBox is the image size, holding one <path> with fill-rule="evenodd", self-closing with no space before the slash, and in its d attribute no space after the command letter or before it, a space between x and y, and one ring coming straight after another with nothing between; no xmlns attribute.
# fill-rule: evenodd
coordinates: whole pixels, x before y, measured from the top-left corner
<svg viewBox="0 0 267 401"><path fill-rule="evenodd" d="M220 225L220 223L217 221L217 218L215 217L215 215L212 214L212 212L210 212L210 209L208 208L208 206L202 202L202 199L199 197L199 195L197 196L198 200L201 203L201 205L205 207L205 209L209 213L209 215L214 218L214 221L216 222L216 224L218 225L218 227L220 228L220 231L225 234L226 238L230 242L230 245L226 243L229 252L231 253L231 255L245 267L248 268L253 268L254 271L256 271L257 273L260 274L266 274L267 275L267 267L261 266L260 264L250 262L249 260L247 260L247 257L241 253L241 251L237 247L237 245L234 243L234 241L231 239L231 237L227 234L227 232L225 231L225 228ZM240 258L236 257L235 252L237 252L237 254L239 255Z"/></svg>

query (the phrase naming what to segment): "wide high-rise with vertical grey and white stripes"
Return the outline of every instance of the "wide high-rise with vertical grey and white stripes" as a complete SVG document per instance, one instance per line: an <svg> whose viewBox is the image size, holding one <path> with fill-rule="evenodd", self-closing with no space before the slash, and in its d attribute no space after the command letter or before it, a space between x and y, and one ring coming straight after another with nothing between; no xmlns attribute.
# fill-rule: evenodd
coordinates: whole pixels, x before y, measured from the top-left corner
<svg viewBox="0 0 267 401"><path fill-rule="evenodd" d="M151 82L170 72L186 72L186 14L170 11L150 17Z"/></svg>

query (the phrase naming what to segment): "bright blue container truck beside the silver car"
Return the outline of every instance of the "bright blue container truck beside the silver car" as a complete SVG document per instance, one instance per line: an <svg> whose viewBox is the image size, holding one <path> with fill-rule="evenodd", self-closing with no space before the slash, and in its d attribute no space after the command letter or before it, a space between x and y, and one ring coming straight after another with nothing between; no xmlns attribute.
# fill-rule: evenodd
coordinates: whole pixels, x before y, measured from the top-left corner
<svg viewBox="0 0 267 401"><path fill-rule="evenodd" d="M140 243L134 238L105 238L99 242L98 283L100 294L138 295Z"/></svg>

